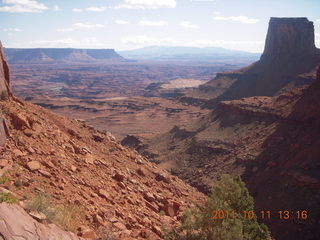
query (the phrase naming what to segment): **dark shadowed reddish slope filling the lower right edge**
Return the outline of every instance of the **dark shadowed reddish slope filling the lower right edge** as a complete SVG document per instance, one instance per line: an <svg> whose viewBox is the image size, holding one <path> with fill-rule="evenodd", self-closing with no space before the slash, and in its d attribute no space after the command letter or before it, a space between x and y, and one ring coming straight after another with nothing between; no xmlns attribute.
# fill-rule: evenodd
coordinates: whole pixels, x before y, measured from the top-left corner
<svg viewBox="0 0 320 240"><path fill-rule="evenodd" d="M319 239L320 229L320 79L305 90L292 113L264 142L255 166L244 178L255 198L256 211L271 210L265 221L276 239ZM251 167L258 169L254 174ZM278 211L290 211L280 220ZM306 210L307 219L297 219ZM294 218L294 219L292 219Z"/></svg>

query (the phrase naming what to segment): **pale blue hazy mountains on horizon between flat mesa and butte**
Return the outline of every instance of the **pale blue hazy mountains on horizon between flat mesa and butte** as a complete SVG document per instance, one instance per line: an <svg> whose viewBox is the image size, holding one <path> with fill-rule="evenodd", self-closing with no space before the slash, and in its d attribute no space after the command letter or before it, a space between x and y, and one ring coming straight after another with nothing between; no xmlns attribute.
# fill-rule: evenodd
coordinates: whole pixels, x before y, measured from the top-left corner
<svg viewBox="0 0 320 240"><path fill-rule="evenodd" d="M252 58L257 60L260 53L229 50L221 47L167 47L150 46L134 50L119 51L128 59L153 60L222 60L230 58Z"/></svg>

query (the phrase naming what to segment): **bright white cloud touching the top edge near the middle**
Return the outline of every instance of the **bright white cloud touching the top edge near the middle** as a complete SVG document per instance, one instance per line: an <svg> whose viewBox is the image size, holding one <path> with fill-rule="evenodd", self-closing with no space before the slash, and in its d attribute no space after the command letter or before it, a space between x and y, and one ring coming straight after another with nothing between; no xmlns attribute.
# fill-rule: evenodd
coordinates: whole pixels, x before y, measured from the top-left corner
<svg viewBox="0 0 320 240"><path fill-rule="evenodd" d="M151 9L151 8L175 8L176 0L125 0L116 8Z"/></svg>

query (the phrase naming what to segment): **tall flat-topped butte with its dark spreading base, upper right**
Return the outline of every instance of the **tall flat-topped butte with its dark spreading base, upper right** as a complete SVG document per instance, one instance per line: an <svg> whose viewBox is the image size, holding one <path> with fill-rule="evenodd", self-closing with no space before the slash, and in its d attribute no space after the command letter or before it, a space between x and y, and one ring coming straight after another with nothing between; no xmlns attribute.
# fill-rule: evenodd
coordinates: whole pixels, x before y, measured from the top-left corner
<svg viewBox="0 0 320 240"><path fill-rule="evenodd" d="M310 84L314 79L306 73L314 72L319 63L312 22L307 18L271 18L260 60L239 71L218 74L199 90L203 95L212 94L204 104L209 108L224 100L274 96Z"/></svg>

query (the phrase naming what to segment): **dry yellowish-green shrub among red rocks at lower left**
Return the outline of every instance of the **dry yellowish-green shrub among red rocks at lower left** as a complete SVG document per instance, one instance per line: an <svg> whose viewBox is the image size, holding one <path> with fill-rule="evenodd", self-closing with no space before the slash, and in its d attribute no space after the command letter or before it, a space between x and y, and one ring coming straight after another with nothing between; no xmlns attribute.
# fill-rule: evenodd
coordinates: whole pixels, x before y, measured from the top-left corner
<svg viewBox="0 0 320 240"><path fill-rule="evenodd" d="M79 206L54 205L50 200L50 195L46 193L34 194L27 202L27 209L43 213L50 222L67 231L75 231L80 225L81 209Z"/></svg>

